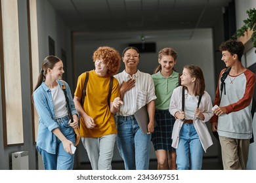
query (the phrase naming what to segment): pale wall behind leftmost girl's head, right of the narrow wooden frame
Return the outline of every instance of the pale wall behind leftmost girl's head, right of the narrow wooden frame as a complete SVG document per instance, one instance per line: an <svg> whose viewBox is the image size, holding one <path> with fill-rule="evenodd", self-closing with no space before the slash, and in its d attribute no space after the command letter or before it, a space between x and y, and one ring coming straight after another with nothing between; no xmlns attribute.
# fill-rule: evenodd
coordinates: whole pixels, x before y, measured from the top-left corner
<svg viewBox="0 0 256 183"><path fill-rule="evenodd" d="M46 56L49 56L48 37L55 42L55 56L61 59L61 49L66 51L67 65L64 75L73 90L72 69L72 42L71 31L48 1L37 1L38 42L39 42L39 66Z"/></svg>

